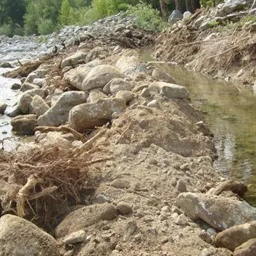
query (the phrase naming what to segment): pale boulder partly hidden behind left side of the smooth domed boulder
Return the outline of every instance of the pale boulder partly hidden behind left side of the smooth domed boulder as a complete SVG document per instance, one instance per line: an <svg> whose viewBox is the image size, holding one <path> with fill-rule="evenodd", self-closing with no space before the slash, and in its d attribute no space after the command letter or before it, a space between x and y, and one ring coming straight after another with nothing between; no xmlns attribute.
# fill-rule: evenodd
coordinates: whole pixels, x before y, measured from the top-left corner
<svg viewBox="0 0 256 256"><path fill-rule="evenodd" d="M78 67L73 68L70 71L67 71L64 75L64 80L69 83L71 86L78 88L80 91L83 91L83 80L86 78L86 75L90 72L93 67L101 65L102 62L99 59L94 59L92 62L88 62L84 65L79 65Z"/></svg>

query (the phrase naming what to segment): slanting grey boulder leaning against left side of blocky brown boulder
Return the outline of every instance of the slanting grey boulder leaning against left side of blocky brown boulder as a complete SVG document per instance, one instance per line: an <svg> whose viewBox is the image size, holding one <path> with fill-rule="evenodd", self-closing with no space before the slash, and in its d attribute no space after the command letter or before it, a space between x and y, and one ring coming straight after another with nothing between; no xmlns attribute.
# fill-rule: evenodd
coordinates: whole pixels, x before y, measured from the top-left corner
<svg viewBox="0 0 256 256"><path fill-rule="evenodd" d="M67 122L70 110L86 102L88 94L83 91L67 91L48 111L38 117L38 125L59 126Z"/></svg>

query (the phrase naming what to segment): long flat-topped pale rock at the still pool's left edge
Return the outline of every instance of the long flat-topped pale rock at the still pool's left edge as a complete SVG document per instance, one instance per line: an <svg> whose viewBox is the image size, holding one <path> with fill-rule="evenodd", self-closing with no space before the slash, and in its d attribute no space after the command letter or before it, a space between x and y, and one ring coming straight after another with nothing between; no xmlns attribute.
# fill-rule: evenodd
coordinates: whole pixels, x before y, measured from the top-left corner
<svg viewBox="0 0 256 256"><path fill-rule="evenodd" d="M168 98L189 99L189 91L185 87L173 83L153 82L149 84L149 91L156 91Z"/></svg>

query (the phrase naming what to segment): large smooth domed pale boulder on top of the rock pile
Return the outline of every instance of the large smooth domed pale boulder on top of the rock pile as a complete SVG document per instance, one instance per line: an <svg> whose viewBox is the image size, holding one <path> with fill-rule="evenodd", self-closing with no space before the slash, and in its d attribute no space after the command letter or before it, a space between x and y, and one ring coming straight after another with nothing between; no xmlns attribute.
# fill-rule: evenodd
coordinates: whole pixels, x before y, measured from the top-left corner
<svg viewBox="0 0 256 256"><path fill-rule="evenodd" d="M94 88L103 88L113 78L123 78L117 68L111 65L99 65L94 67L83 80L83 91L91 91Z"/></svg>

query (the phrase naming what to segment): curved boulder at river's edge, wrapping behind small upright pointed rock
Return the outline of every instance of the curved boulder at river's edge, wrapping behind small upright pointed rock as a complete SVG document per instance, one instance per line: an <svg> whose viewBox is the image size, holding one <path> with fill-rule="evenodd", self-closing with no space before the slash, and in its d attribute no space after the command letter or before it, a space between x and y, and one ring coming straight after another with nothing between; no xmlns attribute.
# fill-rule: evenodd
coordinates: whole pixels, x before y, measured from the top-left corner
<svg viewBox="0 0 256 256"><path fill-rule="evenodd" d="M18 102L18 109L22 114L31 114L33 113L33 108L31 106L33 96L39 95L42 98L44 98L47 95L47 91L44 89L32 89L25 91L20 96L19 102Z"/></svg>

